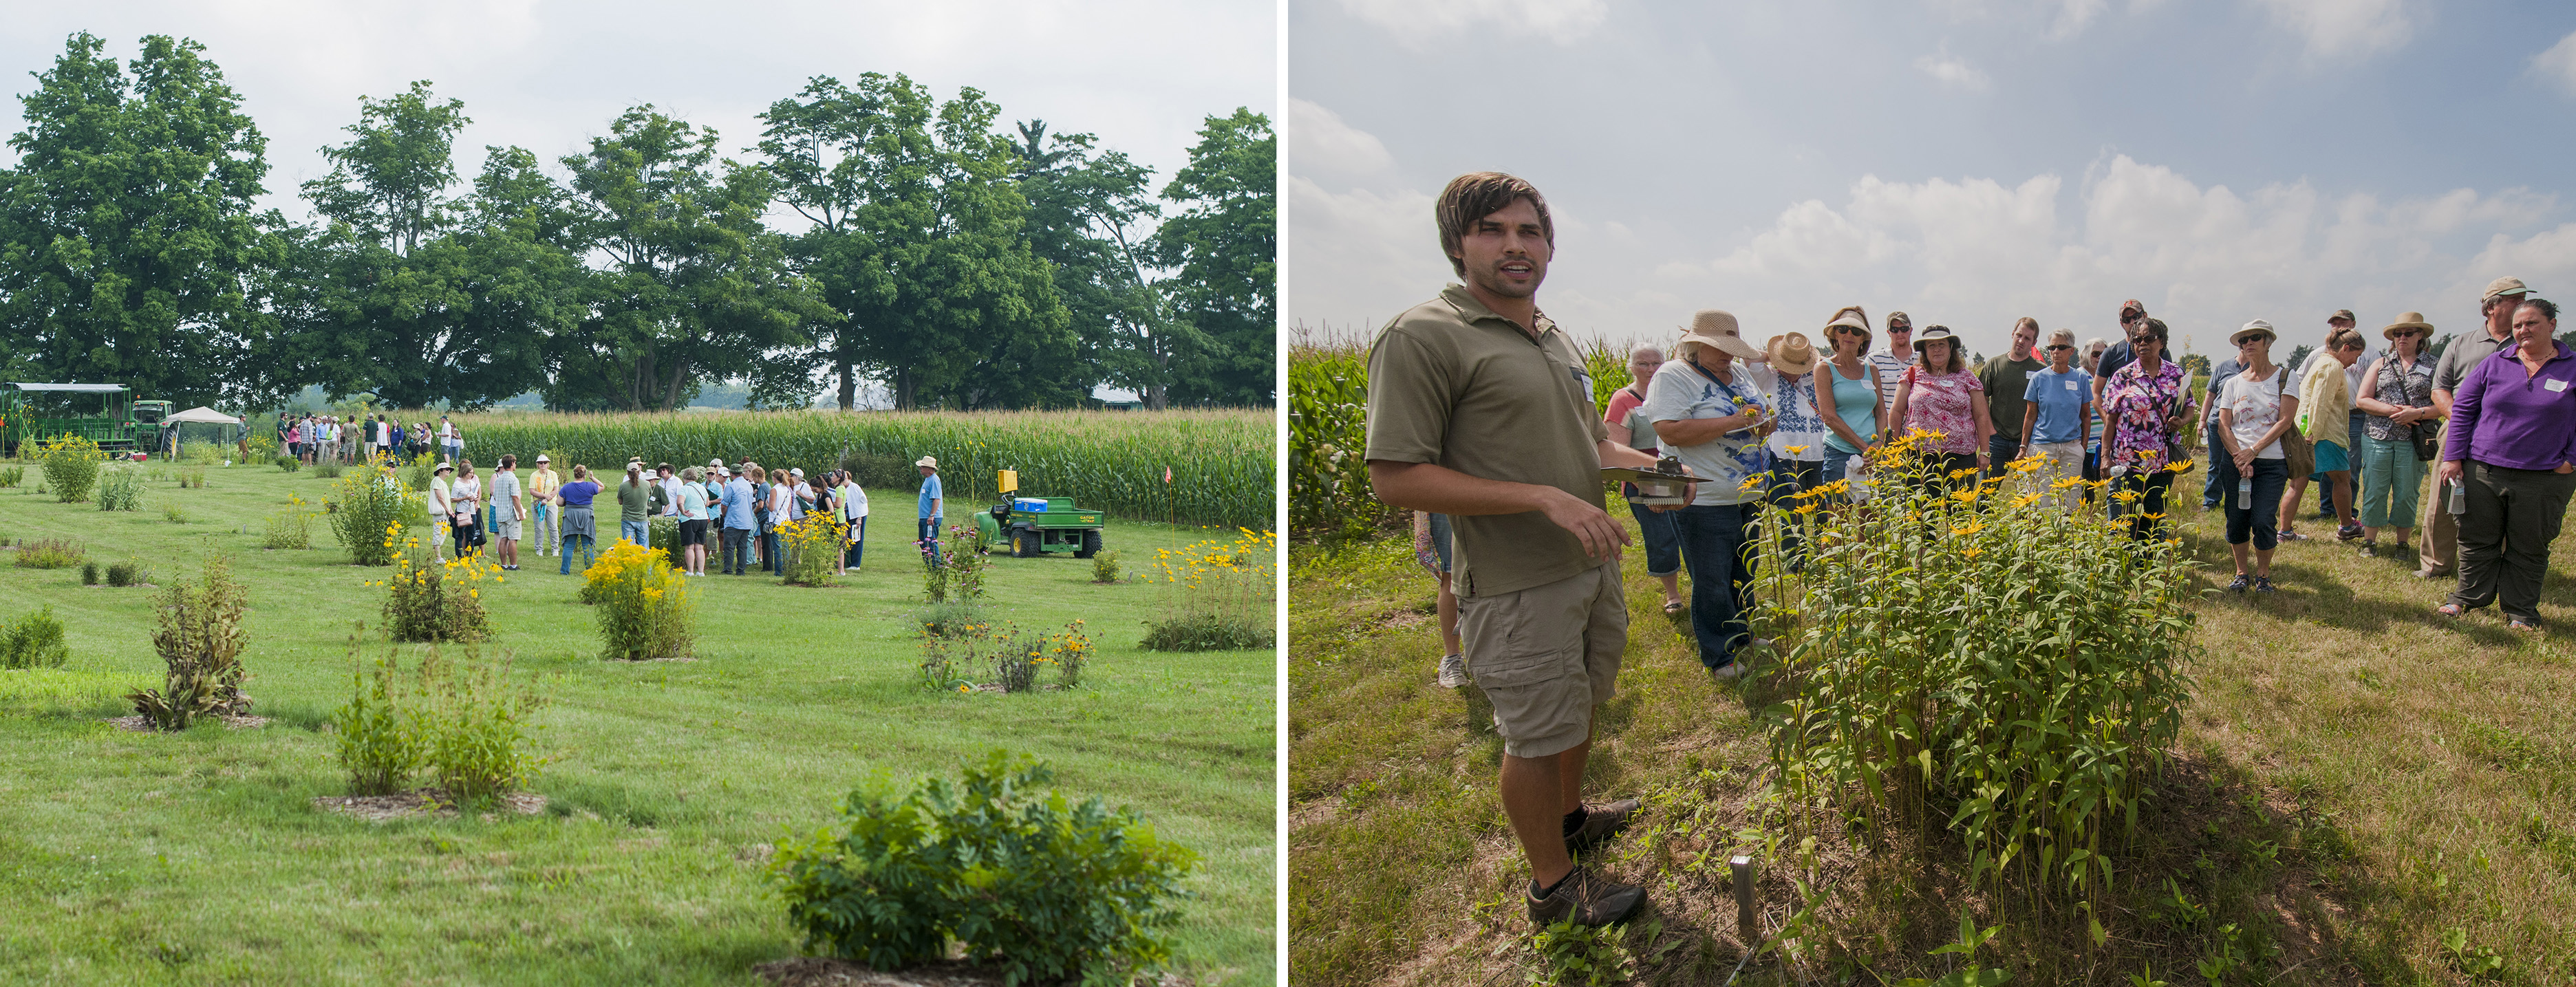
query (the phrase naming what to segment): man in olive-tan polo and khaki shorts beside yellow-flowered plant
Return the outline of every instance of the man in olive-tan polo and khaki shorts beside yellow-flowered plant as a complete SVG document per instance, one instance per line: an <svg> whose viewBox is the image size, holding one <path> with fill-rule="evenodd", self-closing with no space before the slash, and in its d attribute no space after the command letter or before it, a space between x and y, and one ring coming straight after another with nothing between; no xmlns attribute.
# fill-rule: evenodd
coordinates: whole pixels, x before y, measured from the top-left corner
<svg viewBox="0 0 2576 987"><path fill-rule="evenodd" d="M1538 312L1556 253L1530 183L1458 175L1432 206L1466 283L1412 307L1368 353L1368 479L1396 508L1450 515L1466 665L1502 734L1502 812L1530 858L1530 920L1607 925L1646 889L1574 866L1636 799L1584 809L1592 709L1628 647L1602 466L1654 459L1610 441L1566 332Z"/></svg>

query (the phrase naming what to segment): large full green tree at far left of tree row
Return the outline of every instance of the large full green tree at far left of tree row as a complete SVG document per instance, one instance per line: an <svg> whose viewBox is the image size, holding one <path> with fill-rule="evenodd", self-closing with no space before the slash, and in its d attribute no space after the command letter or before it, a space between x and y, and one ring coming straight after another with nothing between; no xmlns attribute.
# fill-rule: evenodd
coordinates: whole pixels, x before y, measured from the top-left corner
<svg viewBox="0 0 2576 987"><path fill-rule="evenodd" d="M0 371L116 381L139 397L242 397L252 286L283 263L255 214L268 139L185 39L144 36L126 70L75 34L26 95L0 175ZM131 75L129 75L131 72Z"/></svg>

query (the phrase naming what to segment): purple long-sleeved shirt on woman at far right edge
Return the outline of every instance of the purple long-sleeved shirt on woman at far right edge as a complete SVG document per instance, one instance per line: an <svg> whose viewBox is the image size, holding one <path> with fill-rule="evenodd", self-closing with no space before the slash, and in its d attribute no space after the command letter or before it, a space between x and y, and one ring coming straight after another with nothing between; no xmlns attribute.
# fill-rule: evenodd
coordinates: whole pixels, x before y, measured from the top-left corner
<svg viewBox="0 0 2576 987"><path fill-rule="evenodd" d="M2504 469L2558 469L2576 459L2576 350L2553 345L2558 356L2540 374L2524 374L2522 348L2506 345L2460 379L2442 459Z"/></svg>

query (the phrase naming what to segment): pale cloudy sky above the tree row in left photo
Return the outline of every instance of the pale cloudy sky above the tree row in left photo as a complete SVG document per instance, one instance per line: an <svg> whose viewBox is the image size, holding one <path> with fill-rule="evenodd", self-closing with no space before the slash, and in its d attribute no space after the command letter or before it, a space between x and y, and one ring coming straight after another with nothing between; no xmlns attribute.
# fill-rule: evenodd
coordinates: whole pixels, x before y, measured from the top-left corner
<svg viewBox="0 0 2576 987"><path fill-rule="evenodd" d="M943 101L961 85L1002 106L1002 121L1046 119L1051 131L1095 131L1105 147L1154 165L1157 183L1188 162L1203 116L1249 106L1278 119L1278 8L1270 0L1203 3L559 3L559 0L144 0L0 5L0 75L10 98L0 126L21 126L21 101L90 31L131 59L137 39L175 34L206 44L268 134L268 196L307 216L296 186L330 173L322 144L348 139L358 95L386 98L412 80L461 98L471 126L456 139L471 180L484 144L518 144L546 162L574 155L629 106L654 103L711 124L721 149L752 160L752 119L811 75L853 82L904 72ZM0 160L15 152L0 149Z"/></svg>

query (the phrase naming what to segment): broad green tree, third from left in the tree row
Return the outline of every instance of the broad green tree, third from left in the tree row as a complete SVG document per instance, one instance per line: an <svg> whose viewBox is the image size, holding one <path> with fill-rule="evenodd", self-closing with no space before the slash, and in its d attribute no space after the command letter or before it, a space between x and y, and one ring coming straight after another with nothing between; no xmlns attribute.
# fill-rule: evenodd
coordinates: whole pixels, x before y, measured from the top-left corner
<svg viewBox="0 0 2576 987"><path fill-rule="evenodd" d="M703 379L793 361L806 327L835 317L760 222L775 180L716 162L714 129L636 106L562 162L577 229L611 265L592 278L595 320L559 338L549 407L672 410Z"/></svg>

